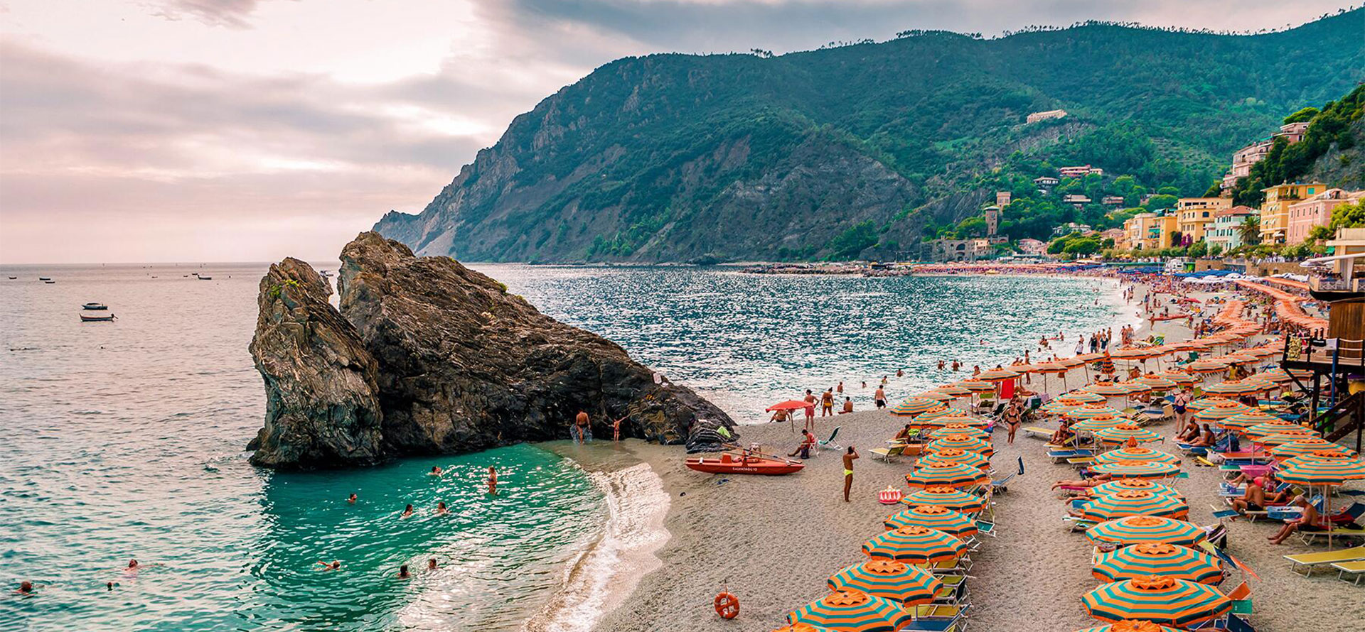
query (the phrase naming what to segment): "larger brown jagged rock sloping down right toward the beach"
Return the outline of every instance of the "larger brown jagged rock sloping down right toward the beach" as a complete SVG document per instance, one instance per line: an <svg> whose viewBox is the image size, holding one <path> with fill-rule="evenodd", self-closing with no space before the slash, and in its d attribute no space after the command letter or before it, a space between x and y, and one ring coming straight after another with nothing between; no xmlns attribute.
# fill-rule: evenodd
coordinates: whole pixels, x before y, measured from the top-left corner
<svg viewBox="0 0 1365 632"><path fill-rule="evenodd" d="M463 452L594 434L681 443L698 418L733 426L689 388L616 343L542 315L450 257L418 257L378 233L341 251L341 313L379 364L384 441L394 454Z"/></svg>

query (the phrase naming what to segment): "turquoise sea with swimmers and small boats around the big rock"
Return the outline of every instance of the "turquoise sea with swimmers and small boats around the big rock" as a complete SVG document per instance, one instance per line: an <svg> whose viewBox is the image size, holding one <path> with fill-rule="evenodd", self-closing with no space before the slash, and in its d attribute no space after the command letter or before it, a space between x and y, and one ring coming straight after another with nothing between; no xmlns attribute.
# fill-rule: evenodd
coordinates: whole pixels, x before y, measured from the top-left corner
<svg viewBox="0 0 1365 632"><path fill-rule="evenodd" d="M471 267L747 424L841 381L863 410L883 377L894 400L1132 312L1099 278ZM531 444L253 467L243 447L265 403L247 343L265 268L0 266L0 631L590 629L620 561L667 537L658 477L590 473ZM117 320L82 323L91 301L108 312L85 313ZM938 368L953 360L962 372ZM20 580L35 592L16 594Z"/></svg>

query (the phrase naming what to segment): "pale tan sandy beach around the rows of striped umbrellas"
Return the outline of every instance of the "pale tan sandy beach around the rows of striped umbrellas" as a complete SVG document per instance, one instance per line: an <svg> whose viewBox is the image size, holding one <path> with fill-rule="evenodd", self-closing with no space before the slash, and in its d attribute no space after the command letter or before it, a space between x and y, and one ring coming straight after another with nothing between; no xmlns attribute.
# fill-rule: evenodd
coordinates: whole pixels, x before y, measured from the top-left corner
<svg viewBox="0 0 1365 632"><path fill-rule="evenodd" d="M1141 294L1134 302L1141 304ZM1205 309L1212 313L1212 308ZM1132 312L1119 320L1130 317ZM1152 331L1164 334L1167 342L1190 334L1183 321L1164 321L1155 330L1141 328L1138 336ZM1037 379L1032 385L1039 388ZM1050 383L1043 391L1055 395L1062 387ZM595 629L762 632L784 625L788 612L829 592L826 578L864 560L861 543L882 533L882 520L897 511L876 503L875 493L889 485L905 490L902 477L910 471L913 459L883 463L872 458L870 448L885 445L902 424L904 420L875 410L818 418L820 439L839 426L838 443L856 445L863 454L856 462L852 503L842 499L839 452L807 459L805 469L794 475L725 477L688 470L678 447L637 440L549 445L588 470L647 463L662 478L669 496L665 526L672 537L655 553L658 568L640 578ZM1170 443L1173 426L1174 422L1152 426L1167 436L1153 447L1175 452ZM792 451L800 437L800 430L793 433L786 424L741 426L740 432L744 444L759 443L781 454ZM995 432L996 475L1013 470L1018 459L1025 474L996 497L998 537L986 538L972 554L975 567L968 586L973 629L1066 632L1096 625L1080 602L1082 592L1099 586L1091 576L1091 543L1081 533L1067 533L1062 501L1050 490L1054 481L1074 477L1074 470L1047 459L1043 443L1021 432L1010 445L1003 429ZM1223 507L1216 492L1218 470L1186 460L1185 471L1190 478L1179 481L1178 488L1188 496L1190 520L1212 523L1211 505ZM1256 606L1250 620L1256 628L1276 632L1358 627L1365 616L1362 588L1336 580L1335 572L1317 572L1312 578L1290 572L1280 556L1324 548L1310 549L1293 538L1283 546L1272 546L1265 537L1276 526L1265 520L1228 523L1228 552L1260 575L1260 580L1250 579ZM1222 588L1231 590L1239 580L1234 572ZM740 616L733 621L713 612L711 599L721 590L741 601Z"/></svg>

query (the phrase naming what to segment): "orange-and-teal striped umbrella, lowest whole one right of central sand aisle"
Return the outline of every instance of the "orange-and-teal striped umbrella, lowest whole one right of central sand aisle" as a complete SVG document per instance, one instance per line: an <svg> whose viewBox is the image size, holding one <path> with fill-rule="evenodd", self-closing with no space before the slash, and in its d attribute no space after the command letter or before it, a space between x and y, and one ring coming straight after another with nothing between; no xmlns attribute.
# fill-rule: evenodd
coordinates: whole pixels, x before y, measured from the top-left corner
<svg viewBox="0 0 1365 632"><path fill-rule="evenodd" d="M1100 621L1140 618L1179 628L1222 617L1233 609L1233 601L1218 588L1155 575L1103 584L1081 595L1081 603Z"/></svg>

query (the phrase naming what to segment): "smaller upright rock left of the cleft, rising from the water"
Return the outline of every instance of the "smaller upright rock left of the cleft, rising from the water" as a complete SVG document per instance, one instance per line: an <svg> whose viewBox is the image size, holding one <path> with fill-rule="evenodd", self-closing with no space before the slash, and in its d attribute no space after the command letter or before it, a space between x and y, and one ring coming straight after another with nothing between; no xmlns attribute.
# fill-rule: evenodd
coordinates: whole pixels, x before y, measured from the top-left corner
<svg viewBox="0 0 1365 632"><path fill-rule="evenodd" d="M378 365L332 289L285 259L261 279L251 357L265 380L265 428L251 441L259 466L307 469L384 459Z"/></svg>

